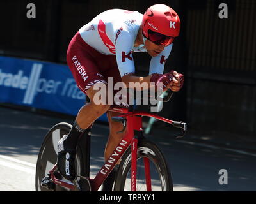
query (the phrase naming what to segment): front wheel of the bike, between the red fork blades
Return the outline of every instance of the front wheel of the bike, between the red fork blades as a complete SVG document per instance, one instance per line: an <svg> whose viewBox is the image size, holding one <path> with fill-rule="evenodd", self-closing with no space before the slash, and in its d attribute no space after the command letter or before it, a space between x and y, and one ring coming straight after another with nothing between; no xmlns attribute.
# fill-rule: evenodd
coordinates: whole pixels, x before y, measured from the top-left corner
<svg viewBox="0 0 256 204"><path fill-rule="evenodd" d="M155 143L148 140L138 142L136 191L147 191L148 189L145 179L147 174L145 172L146 161L149 162L150 166L150 190L173 191L172 175L163 153ZM122 157L116 175L114 191L131 191L131 147Z"/></svg>

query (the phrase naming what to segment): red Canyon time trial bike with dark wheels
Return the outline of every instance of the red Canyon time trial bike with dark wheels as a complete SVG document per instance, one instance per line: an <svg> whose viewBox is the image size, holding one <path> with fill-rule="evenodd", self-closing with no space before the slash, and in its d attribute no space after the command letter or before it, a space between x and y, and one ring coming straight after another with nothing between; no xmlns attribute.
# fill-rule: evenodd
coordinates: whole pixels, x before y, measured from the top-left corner
<svg viewBox="0 0 256 204"><path fill-rule="evenodd" d="M172 94L165 101L169 101ZM45 135L36 163L36 191L99 191L100 186L121 159L116 173L113 191L173 191L170 168L164 155L143 135L143 117L154 117L186 133L186 123L160 117L157 114L134 111L131 108L111 106L108 111L121 113L112 120L123 124L125 135L100 168L94 178L90 178L90 128L80 136L76 148L76 179L66 180L57 168L57 142L68 134L72 126L61 122L53 126ZM178 136L179 137L179 136Z"/></svg>

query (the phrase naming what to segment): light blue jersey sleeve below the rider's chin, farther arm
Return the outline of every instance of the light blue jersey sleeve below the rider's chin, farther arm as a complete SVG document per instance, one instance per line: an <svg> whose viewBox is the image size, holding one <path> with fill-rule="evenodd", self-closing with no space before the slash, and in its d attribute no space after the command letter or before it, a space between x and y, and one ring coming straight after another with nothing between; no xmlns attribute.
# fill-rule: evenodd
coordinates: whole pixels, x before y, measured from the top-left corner
<svg viewBox="0 0 256 204"><path fill-rule="evenodd" d="M163 74L165 61L169 57L171 51L172 44L165 47L159 55L151 58L148 75L152 75L154 73Z"/></svg>

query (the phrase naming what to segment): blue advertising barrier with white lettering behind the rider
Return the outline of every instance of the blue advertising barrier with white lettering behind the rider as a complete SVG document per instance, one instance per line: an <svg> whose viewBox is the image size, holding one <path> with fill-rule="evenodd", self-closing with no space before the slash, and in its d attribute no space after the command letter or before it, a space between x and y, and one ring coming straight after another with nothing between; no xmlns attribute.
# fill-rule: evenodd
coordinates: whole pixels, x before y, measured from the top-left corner
<svg viewBox="0 0 256 204"><path fill-rule="evenodd" d="M68 66L0 56L1 103L77 115L85 97Z"/></svg>

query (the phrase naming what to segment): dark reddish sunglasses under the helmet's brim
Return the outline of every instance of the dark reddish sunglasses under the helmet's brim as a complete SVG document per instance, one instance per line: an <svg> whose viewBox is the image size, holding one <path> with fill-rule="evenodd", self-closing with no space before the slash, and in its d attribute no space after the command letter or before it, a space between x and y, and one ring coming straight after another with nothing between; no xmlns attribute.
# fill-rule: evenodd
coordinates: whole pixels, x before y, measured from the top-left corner
<svg viewBox="0 0 256 204"><path fill-rule="evenodd" d="M174 37L165 36L161 33L156 33L154 31L148 30L148 40L152 41L156 45L168 46L173 43Z"/></svg>

